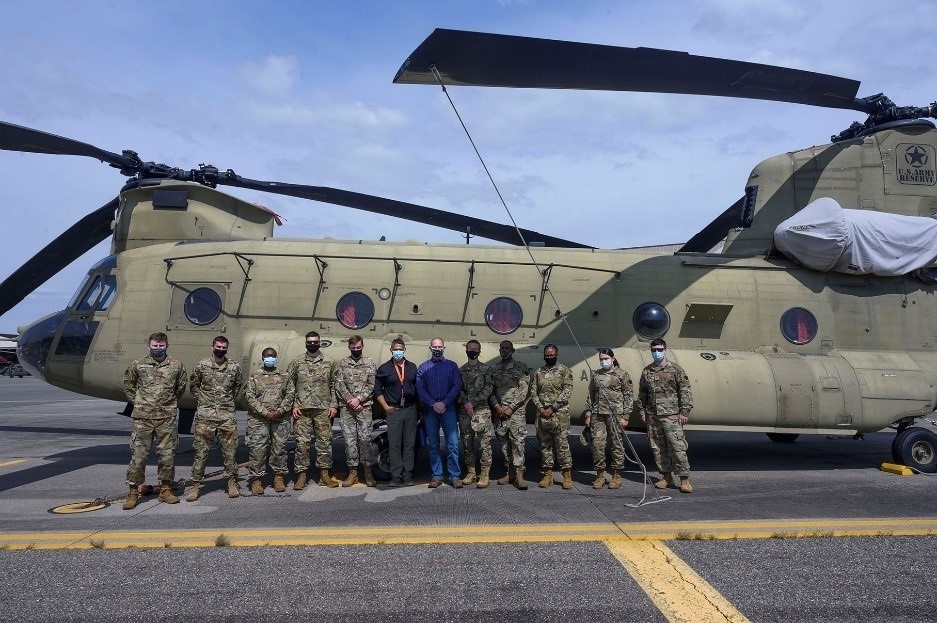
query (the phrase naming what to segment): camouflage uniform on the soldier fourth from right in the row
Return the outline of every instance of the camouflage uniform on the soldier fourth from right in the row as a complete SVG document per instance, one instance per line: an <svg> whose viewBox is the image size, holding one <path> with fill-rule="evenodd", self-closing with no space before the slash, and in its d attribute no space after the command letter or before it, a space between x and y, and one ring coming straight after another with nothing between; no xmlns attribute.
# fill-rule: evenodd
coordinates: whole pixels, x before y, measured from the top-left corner
<svg viewBox="0 0 937 623"><path fill-rule="evenodd" d="M494 383L494 394L491 396L492 408L503 406L511 409L511 417L498 418L495 434L501 442L501 453L504 455L504 464L510 470L511 466L524 467L524 444L527 442L527 392L530 388L530 368L527 364L516 359L505 363L500 362L491 366L491 380ZM492 411L492 418L497 416Z"/></svg>

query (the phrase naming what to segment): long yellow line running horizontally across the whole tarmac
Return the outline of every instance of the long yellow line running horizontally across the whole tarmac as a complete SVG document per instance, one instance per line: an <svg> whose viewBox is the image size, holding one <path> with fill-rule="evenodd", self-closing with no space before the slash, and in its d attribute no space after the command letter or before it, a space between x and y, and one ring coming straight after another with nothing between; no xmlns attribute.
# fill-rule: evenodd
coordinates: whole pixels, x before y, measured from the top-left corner
<svg viewBox="0 0 937 623"><path fill-rule="evenodd" d="M0 549L419 545L937 535L937 517L602 524L0 532Z"/></svg>

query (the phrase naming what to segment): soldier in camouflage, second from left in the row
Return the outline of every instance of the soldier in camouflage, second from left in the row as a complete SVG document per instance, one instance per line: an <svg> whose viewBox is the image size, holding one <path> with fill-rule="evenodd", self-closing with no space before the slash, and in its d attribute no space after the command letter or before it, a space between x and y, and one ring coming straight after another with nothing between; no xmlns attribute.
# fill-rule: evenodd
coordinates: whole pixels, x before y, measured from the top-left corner
<svg viewBox="0 0 937 623"><path fill-rule="evenodd" d="M218 438L221 456L224 459L224 476L228 480L228 497L240 495L237 486L237 419L234 400L241 393L244 379L241 366L228 359L228 338L219 335L212 340L212 356L195 364L189 379L189 390L198 401L195 410L195 437L192 449L192 488L186 496L187 502L199 497L208 453Z"/></svg>

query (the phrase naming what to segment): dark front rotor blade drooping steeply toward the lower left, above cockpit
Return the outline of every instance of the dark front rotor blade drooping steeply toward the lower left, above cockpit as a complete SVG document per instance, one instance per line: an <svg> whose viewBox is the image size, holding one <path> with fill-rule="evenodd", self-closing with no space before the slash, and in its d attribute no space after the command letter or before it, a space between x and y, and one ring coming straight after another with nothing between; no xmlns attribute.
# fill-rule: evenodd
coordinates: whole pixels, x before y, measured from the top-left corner
<svg viewBox="0 0 937 623"><path fill-rule="evenodd" d="M53 275L111 235L115 197L69 227L0 283L0 316L10 311Z"/></svg>

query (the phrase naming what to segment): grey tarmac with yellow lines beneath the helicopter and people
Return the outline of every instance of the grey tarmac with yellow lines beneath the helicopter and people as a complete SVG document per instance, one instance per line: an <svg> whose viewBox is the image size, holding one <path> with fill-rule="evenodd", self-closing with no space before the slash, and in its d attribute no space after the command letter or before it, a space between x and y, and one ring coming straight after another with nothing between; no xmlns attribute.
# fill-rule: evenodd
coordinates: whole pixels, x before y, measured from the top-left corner
<svg viewBox="0 0 937 623"><path fill-rule="evenodd" d="M622 489L593 490L576 436L573 491L428 489L422 457L414 487L251 496L242 486L229 499L215 476L197 502L146 496L123 511L122 407L0 378L4 620L932 621L937 611L926 562L937 554L934 477L879 469L890 432L777 444L691 430L692 494L659 496L636 465ZM629 439L653 465L644 435ZM333 444L340 474L343 448ZM177 478L191 458L183 436ZM539 460L531 435L530 479ZM209 472L220 464L215 450ZM147 474L155 484L155 458ZM95 499L114 502L51 512ZM655 583L668 575L671 585Z"/></svg>

